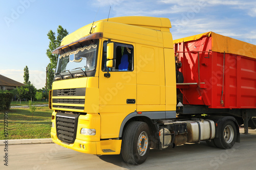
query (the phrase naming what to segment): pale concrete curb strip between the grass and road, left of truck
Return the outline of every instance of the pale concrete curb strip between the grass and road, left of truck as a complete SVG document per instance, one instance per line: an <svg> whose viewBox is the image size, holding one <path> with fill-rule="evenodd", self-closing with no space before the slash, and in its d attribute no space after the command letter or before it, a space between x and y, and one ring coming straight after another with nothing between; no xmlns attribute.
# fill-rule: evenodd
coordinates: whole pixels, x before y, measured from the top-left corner
<svg viewBox="0 0 256 170"><path fill-rule="evenodd" d="M5 145L6 141L8 144L33 144L33 143L53 143L51 138L48 139L11 139L11 140L0 140L0 145Z"/></svg>

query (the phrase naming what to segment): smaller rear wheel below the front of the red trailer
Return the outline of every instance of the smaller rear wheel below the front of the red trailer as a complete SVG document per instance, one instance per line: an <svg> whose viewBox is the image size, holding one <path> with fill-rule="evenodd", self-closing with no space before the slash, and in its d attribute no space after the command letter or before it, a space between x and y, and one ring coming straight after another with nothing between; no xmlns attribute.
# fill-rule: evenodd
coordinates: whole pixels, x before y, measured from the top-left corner
<svg viewBox="0 0 256 170"><path fill-rule="evenodd" d="M233 147L237 139L237 129L234 122L228 120L220 129L220 137L215 138L214 142L218 148L230 149Z"/></svg>

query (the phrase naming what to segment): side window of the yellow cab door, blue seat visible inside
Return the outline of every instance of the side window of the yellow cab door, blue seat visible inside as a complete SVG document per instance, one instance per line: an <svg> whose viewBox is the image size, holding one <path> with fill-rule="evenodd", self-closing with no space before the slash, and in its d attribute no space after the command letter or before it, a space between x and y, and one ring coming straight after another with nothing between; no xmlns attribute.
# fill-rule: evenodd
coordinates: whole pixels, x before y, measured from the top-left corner
<svg viewBox="0 0 256 170"><path fill-rule="evenodd" d="M108 41L103 42L102 71L107 71L106 67L106 45ZM116 43L116 59L114 67L109 71L133 71L133 46L129 44Z"/></svg>

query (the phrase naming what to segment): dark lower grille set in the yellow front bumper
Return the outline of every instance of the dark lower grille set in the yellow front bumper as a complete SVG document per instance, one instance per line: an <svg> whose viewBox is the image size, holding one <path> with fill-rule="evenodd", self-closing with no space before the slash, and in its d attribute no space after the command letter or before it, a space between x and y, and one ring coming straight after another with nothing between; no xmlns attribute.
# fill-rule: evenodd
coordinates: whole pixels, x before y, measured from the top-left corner
<svg viewBox="0 0 256 170"><path fill-rule="evenodd" d="M79 114L56 114L56 132L59 140L74 143Z"/></svg>

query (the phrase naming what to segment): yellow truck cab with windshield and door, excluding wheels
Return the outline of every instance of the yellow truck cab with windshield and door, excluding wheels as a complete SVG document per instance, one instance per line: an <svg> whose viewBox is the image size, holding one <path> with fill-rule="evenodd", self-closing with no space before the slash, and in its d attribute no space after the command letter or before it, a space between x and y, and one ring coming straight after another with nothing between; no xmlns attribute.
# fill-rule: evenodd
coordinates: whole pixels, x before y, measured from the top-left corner
<svg viewBox="0 0 256 170"><path fill-rule="evenodd" d="M53 52L58 62L50 91L52 140L83 153L120 154L132 120L175 118L169 28L167 18L117 17L63 38Z"/></svg>

